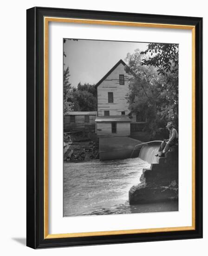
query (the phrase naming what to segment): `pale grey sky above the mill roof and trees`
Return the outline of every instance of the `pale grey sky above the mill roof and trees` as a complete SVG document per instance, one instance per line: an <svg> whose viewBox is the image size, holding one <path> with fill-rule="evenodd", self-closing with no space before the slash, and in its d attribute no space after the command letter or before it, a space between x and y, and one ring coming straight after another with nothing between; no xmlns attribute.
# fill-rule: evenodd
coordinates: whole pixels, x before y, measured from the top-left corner
<svg viewBox="0 0 208 256"><path fill-rule="evenodd" d="M127 53L139 48L144 51L148 43L104 40L66 40L64 43L64 69L69 66L70 83L96 84Z"/></svg>

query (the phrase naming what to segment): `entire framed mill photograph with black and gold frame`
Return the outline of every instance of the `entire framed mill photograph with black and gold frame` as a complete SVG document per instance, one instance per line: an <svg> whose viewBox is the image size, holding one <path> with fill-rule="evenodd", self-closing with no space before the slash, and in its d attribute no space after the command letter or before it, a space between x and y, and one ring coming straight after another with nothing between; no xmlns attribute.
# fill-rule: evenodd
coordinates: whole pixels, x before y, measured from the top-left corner
<svg viewBox="0 0 208 256"><path fill-rule="evenodd" d="M27 246L202 238L202 18L27 10Z"/></svg>

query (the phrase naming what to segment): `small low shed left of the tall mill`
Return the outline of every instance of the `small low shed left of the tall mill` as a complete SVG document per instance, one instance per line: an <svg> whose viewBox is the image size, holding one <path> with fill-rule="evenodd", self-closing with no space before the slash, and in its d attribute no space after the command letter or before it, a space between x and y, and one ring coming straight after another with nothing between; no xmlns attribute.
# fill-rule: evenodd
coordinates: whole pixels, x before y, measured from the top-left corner
<svg viewBox="0 0 208 256"><path fill-rule="evenodd" d="M95 129L97 111L69 111L64 115L64 130Z"/></svg>

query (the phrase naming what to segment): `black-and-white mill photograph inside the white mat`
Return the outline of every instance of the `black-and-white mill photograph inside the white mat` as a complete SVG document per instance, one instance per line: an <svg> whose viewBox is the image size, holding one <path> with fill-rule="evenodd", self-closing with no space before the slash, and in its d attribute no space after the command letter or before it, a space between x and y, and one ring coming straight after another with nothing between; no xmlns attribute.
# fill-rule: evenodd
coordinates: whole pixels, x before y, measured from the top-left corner
<svg viewBox="0 0 208 256"><path fill-rule="evenodd" d="M178 211L178 51L63 40L63 216Z"/></svg>

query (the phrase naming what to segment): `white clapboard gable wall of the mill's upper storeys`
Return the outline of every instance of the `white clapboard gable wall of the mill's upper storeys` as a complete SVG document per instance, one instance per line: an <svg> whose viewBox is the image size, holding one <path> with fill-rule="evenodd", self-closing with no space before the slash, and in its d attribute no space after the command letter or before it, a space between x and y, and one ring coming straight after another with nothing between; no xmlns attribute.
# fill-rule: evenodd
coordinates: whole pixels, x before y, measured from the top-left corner
<svg viewBox="0 0 208 256"><path fill-rule="evenodd" d="M124 85L119 85L119 74L124 75ZM129 114L129 105L126 100L129 92L129 79L130 75L125 72L123 64L120 63L97 87L99 116L104 115L104 110L109 110L110 115L121 115L121 111L125 111L125 115ZM113 103L108 103L108 92L113 93Z"/></svg>

